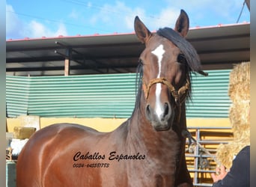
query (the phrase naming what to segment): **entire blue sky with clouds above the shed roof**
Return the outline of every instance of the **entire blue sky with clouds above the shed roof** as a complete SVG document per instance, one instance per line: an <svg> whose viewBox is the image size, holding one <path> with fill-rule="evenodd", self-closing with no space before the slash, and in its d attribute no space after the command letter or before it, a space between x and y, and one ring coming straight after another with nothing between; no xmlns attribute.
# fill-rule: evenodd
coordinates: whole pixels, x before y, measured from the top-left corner
<svg viewBox="0 0 256 187"><path fill-rule="evenodd" d="M6 1L6 39L133 32L135 16L150 31L174 27L180 9L190 28L235 24L243 0L38 0ZM239 22L250 22L246 4Z"/></svg>

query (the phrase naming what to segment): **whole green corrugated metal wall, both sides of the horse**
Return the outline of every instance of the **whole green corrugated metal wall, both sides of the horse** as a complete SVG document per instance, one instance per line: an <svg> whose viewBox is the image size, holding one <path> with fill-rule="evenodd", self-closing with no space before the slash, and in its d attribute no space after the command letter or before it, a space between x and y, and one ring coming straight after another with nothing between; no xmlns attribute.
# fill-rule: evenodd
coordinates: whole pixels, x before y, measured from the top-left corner
<svg viewBox="0 0 256 187"><path fill-rule="evenodd" d="M230 70L193 76L187 117L228 117ZM135 73L86 76L7 76L7 115L121 117L132 114Z"/></svg>

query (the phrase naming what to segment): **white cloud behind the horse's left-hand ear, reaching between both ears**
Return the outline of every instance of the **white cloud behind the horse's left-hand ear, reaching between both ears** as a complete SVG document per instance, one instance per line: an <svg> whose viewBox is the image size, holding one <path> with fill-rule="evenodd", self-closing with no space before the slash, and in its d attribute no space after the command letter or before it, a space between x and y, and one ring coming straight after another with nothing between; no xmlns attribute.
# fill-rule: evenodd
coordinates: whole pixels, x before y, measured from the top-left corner
<svg viewBox="0 0 256 187"><path fill-rule="evenodd" d="M108 25L115 31L134 31L134 18L138 16L150 31L160 27L171 27L175 24L180 10L165 8L158 15L147 15L141 7L129 7L124 2L116 1L115 4L104 4L100 11L91 16L92 25ZM107 29L107 28L106 28Z"/></svg>

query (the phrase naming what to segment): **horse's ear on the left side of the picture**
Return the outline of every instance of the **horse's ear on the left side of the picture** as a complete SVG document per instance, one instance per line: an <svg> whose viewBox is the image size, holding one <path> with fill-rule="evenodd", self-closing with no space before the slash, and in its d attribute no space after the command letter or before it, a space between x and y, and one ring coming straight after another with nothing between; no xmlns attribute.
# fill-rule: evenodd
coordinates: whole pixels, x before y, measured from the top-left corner
<svg viewBox="0 0 256 187"><path fill-rule="evenodd" d="M146 41L151 36L151 32L147 29L147 27L144 25L144 23L141 22L141 20L138 18L138 16L135 16L134 30L135 30L135 34L138 37L138 40L140 40L141 43L146 43Z"/></svg>

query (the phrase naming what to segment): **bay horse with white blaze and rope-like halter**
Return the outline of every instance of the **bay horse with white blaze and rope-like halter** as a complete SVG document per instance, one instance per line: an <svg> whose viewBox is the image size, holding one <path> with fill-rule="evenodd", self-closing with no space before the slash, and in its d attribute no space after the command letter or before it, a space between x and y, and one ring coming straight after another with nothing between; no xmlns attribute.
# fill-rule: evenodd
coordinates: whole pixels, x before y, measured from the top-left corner
<svg viewBox="0 0 256 187"><path fill-rule="evenodd" d="M112 132L59 123L35 132L19 154L20 186L192 186L186 167L185 100L190 73L201 73L198 54L184 37L189 17L180 11L174 30L151 33L135 17L145 49L138 62L131 117Z"/></svg>

